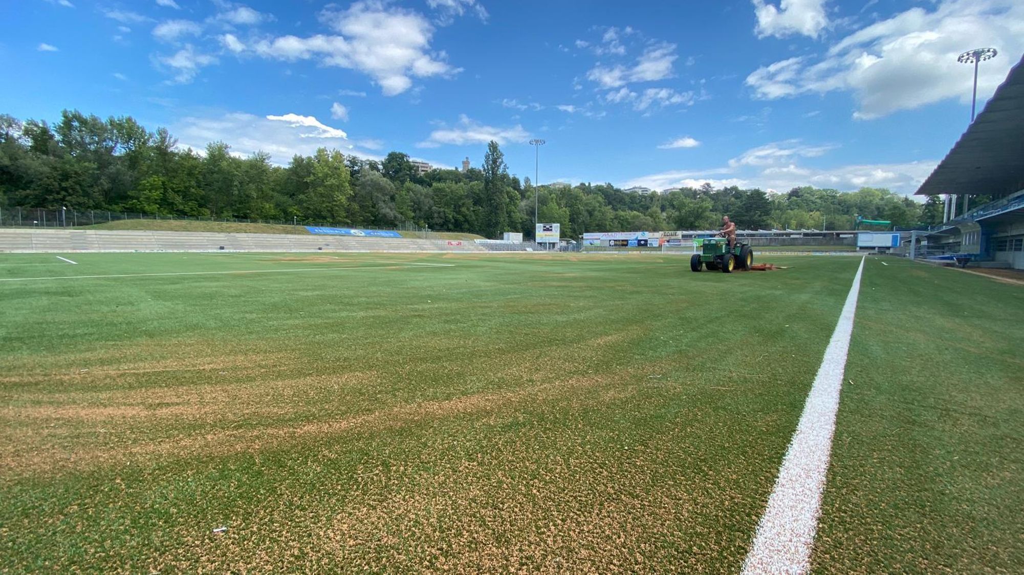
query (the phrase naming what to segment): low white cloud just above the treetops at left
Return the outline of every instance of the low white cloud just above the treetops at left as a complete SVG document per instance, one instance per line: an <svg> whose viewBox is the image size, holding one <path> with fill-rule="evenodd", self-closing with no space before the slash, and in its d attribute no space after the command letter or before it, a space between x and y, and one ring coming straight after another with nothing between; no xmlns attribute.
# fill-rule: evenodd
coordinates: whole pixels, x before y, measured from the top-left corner
<svg viewBox="0 0 1024 575"><path fill-rule="evenodd" d="M190 116L168 128L177 136L179 148L191 147L201 151L207 143L219 140L230 144L236 156L265 151L278 165L287 165L295 154L312 156L318 147L337 148L348 154L380 160L378 156L360 150L344 136L336 136L344 132L324 126L315 118L294 114L269 118L274 119L245 113Z"/></svg>

